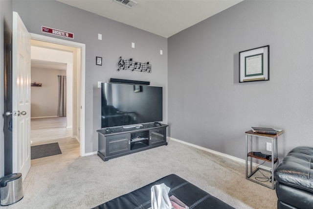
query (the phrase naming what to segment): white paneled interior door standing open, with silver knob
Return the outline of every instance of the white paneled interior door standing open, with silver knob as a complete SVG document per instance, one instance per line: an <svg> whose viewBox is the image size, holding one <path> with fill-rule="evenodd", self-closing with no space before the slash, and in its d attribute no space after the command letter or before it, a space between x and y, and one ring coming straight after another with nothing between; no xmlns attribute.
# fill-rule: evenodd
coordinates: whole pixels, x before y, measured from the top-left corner
<svg viewBox="0 0 313 209"><path fill-rule="evenodd" d="M26 177L30 168L30 34L13 12L12 161L13 173Z"/></svg>

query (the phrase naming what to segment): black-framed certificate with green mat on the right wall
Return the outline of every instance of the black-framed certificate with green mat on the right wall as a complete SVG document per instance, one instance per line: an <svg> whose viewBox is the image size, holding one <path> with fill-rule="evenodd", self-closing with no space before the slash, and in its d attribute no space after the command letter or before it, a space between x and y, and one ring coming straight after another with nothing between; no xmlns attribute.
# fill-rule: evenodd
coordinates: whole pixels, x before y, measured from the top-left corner
<svg viewBox="0 0 313 209"><path fill-rule="evenodd" d="M239 52L239 83L269 80L269 45Z"/></svg>

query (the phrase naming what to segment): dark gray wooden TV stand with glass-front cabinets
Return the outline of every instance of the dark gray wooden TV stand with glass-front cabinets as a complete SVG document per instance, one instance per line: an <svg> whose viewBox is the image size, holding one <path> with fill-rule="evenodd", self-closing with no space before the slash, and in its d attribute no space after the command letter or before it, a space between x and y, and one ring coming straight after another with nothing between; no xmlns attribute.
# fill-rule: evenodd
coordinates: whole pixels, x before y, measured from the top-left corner
<svg viewBox="0 0 313 209"><path fill-rule="evenodd" d="M162 123L132 128L106 128L98 132L98 156L103 161L167 145L166 127Z"/></svg>

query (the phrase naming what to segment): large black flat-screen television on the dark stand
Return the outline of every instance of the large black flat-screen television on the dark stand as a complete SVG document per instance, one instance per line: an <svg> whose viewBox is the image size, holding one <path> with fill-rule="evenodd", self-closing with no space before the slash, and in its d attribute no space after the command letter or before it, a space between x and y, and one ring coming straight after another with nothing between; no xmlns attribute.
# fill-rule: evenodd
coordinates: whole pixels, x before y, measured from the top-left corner
<svg viewBox="0 0 313 209"><path fill-rule="evenodd" d="M162 87L101 84L101 128L162 121Z"/></svg>

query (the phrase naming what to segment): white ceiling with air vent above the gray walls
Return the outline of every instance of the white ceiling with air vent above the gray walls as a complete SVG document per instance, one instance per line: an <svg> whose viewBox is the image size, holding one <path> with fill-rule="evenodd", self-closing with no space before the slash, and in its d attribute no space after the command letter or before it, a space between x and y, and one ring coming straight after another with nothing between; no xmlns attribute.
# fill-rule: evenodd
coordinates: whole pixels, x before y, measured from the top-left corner
<svg viewBox="0 0 313 209"><path fill-rule="evenodd" d="M128 8L113 0L58 0L168 38L242 0L134 0Z"/></svg>

